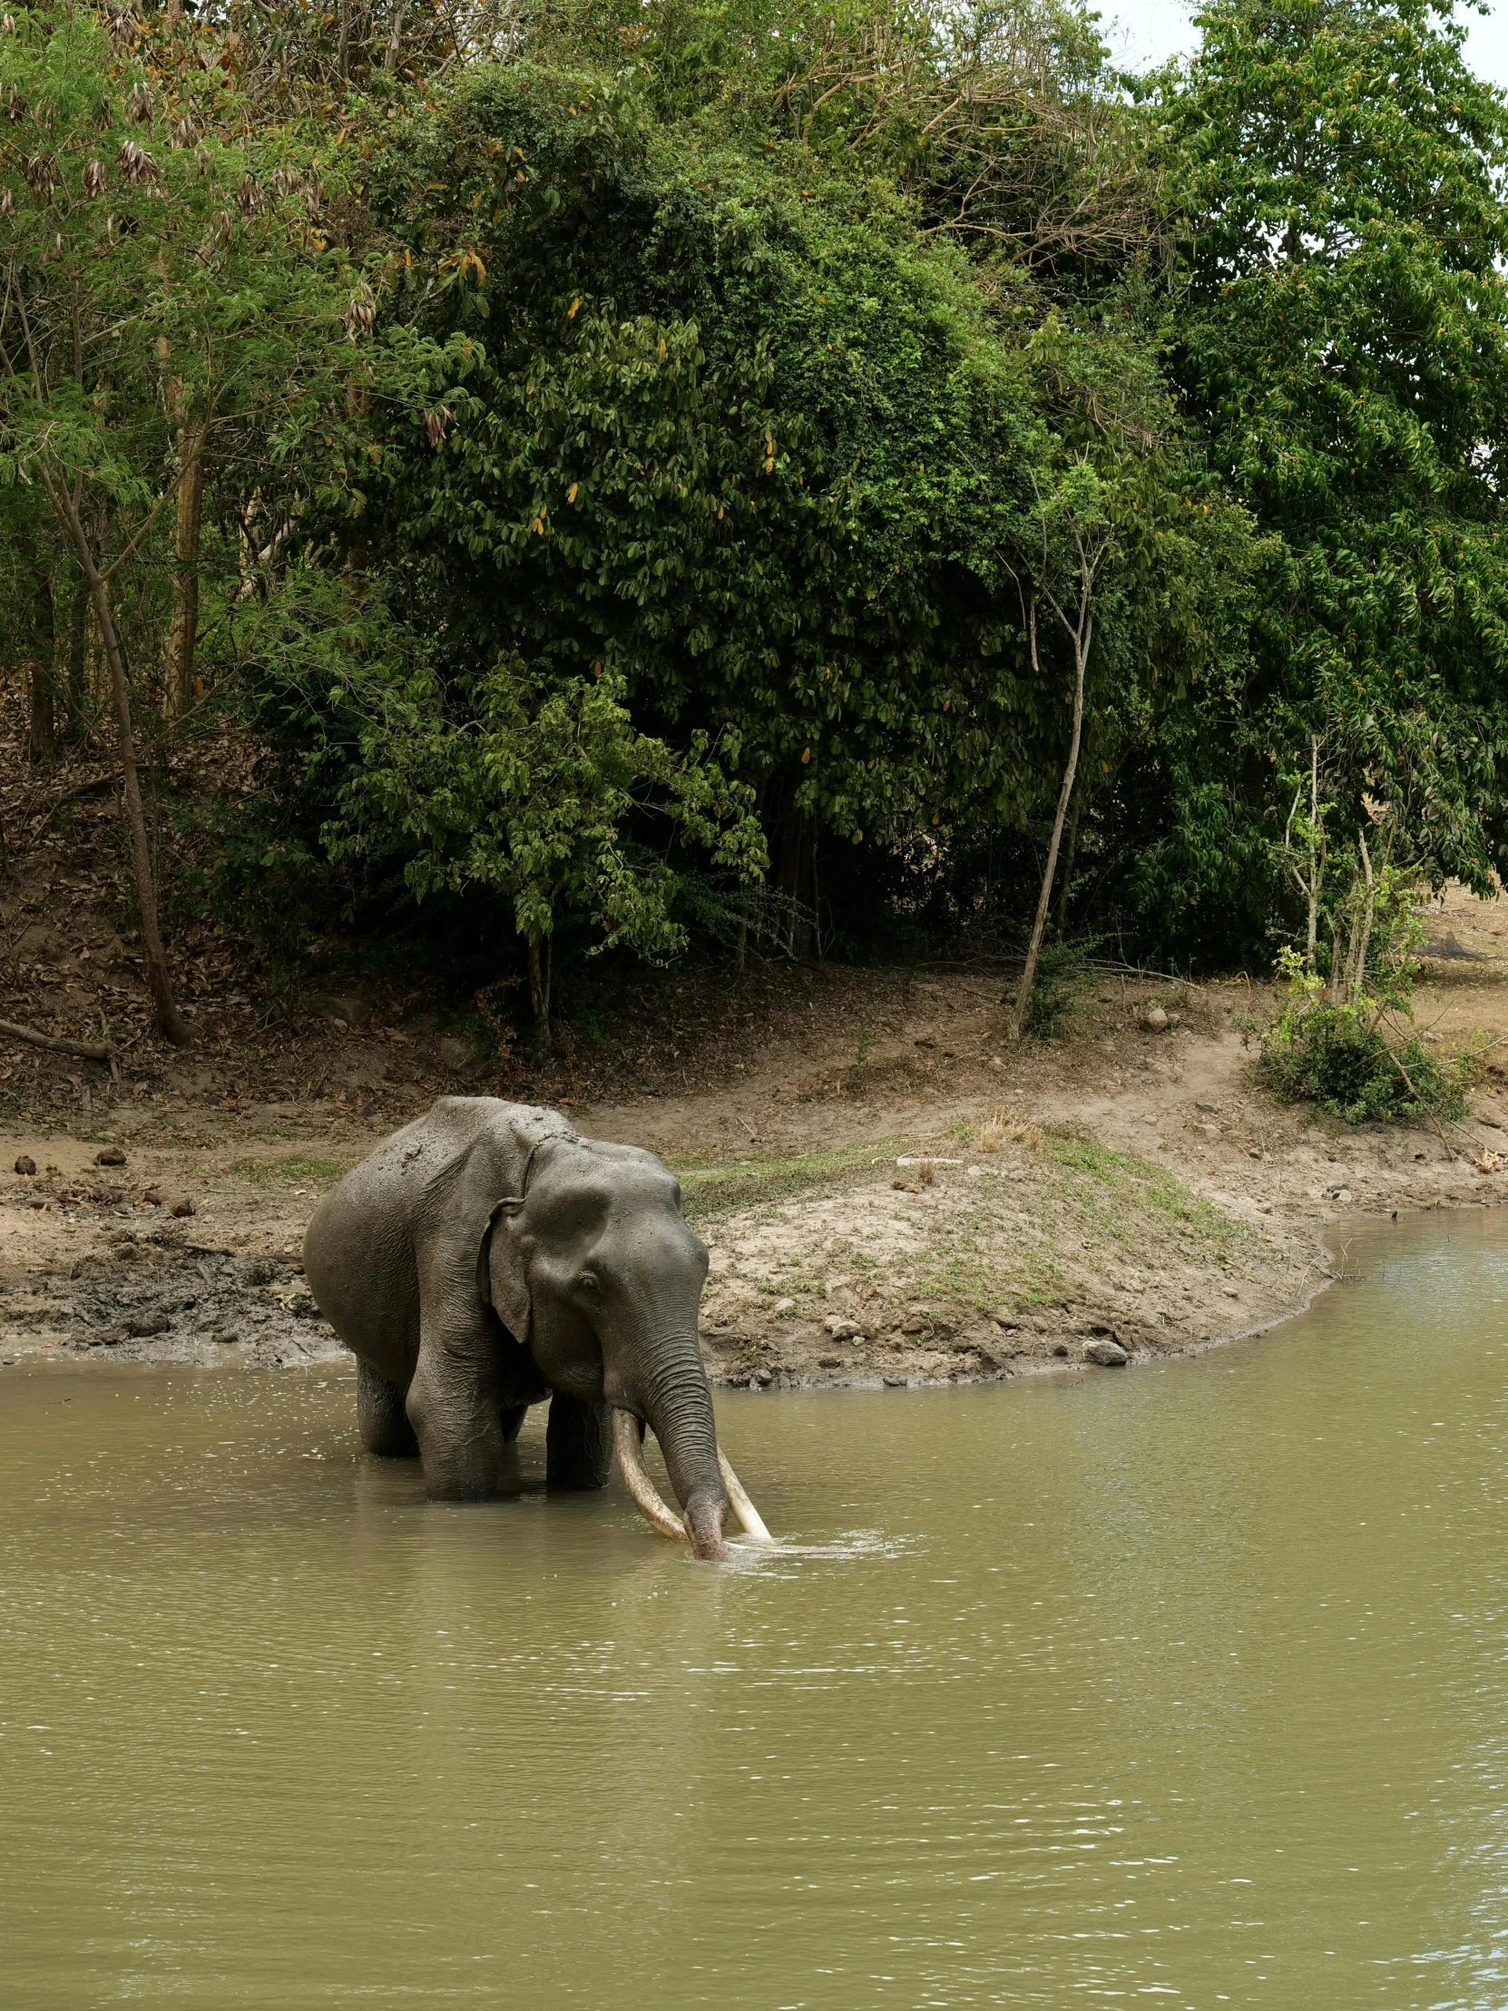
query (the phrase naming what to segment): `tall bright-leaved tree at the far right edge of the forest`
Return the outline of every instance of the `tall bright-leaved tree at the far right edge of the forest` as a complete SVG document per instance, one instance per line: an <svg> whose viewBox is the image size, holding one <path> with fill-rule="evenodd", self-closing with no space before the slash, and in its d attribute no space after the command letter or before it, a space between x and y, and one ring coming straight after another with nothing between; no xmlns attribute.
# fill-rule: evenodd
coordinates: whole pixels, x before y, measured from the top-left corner
<svg viewBox="0 0 1508 2011"><path fill-rule="evenodd" d="M1198 825L1214 784L1275 837L1317 750L1339 831L1387 804L1411 867L1486 889L1508 752L1508 103L1428 0L1216 0L1198 20L1200 54L1154 95L1186 225L1172 368L1273 571L1251 676L1184 734L1168 820Z"/></svg>

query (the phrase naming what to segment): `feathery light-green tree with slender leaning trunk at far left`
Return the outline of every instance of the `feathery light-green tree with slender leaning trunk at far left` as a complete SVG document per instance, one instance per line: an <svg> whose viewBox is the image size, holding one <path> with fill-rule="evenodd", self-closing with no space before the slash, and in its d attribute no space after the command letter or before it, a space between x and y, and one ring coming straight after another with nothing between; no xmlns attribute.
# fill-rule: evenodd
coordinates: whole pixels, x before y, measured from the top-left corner
<svg viewBox="0 0 1508 2011"><path fill-rule="evenodd" d="M109 672L125 827L159 1030L185 1042L157 919L141 710L195 696L201 573L237 597L269 499L350 491L336 434L370 366L364 282L322 177L237 131L221 72L149 76L131 18L8 14L0 32L0 481L12 549L78 569ZM350 461L350 456L346 456ZM229 535L201 551L205 471Z"/></svg>

